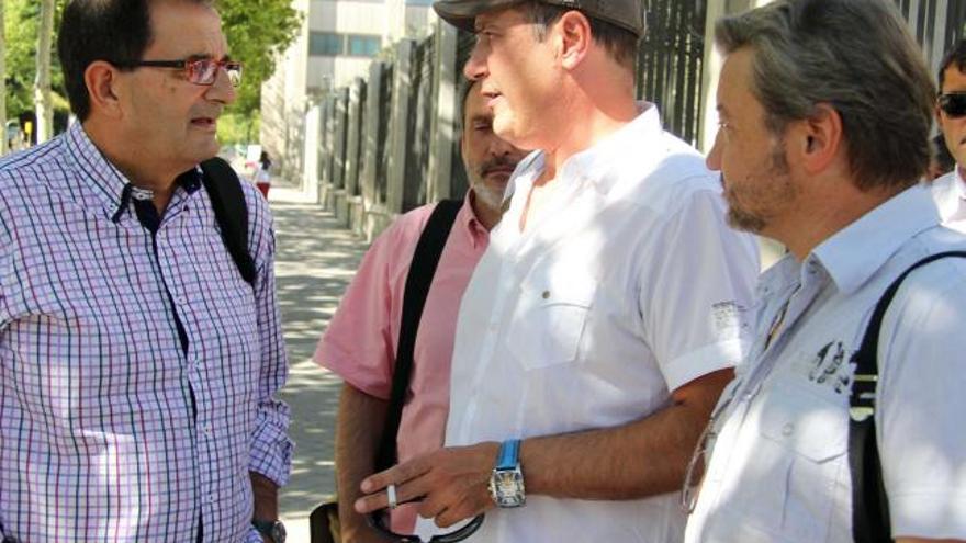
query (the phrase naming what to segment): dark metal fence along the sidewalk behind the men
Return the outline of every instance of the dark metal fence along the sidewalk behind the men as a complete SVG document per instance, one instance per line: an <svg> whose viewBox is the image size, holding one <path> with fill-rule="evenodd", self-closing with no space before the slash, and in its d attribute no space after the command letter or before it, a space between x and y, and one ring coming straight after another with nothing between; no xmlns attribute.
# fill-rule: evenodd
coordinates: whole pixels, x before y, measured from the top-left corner
<svg viewBox="0 0 966 543"><path fill-rule="evenodd" d="M690 143L701 136L709 1L643 0L638 95L655 102L665 128ZM964 35L966 0L895 1L935 71ZM473 43L471 34L440 23L425 39L397 43L392 60L373 61L368 78L324 99L318 193L347 226L371 237L400 213L463 194L456 95Z"/></svg>

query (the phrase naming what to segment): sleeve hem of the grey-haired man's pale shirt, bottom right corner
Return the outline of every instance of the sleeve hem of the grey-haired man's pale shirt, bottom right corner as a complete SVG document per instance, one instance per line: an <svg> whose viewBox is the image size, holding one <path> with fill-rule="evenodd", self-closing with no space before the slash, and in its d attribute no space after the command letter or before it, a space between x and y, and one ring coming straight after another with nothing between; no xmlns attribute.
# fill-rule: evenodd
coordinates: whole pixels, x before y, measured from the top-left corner
<svg viewBox="0 0 966 543"><path fill-rule="evenodd" d="M892 538L966 539L966 493L950 487L934 493L889 495Z"/></svg>

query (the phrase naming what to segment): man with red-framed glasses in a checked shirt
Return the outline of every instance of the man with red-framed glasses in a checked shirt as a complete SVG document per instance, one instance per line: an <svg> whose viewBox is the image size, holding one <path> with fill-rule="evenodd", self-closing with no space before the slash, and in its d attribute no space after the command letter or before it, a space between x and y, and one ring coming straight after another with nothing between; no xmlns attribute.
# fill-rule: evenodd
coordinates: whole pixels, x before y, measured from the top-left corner
<svg viewBox="0 0 966 543"><path fill-rule="evenodd" d="M287 359L265 200L243 280L196 165L240 65L204 0L74 0L77 115L0 161L0 539L282 543Z"/></svg>

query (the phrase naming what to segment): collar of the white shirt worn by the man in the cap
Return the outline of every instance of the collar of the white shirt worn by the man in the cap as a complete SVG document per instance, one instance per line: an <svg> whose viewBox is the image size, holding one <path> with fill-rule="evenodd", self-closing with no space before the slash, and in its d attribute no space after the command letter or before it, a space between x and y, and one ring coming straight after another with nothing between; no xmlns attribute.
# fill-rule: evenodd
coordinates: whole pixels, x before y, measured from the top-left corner
<svg viewBox="0 0 966 543"><path fill-rule="evenodd" d="M633 121L606 136L589 148L566 159L557 172L557 182L570 184L586 181L602 193L606 193L625 176L640 177L641 167L627 167L629 157L640 160L634 150L653 148L664 129L658 106L649 102L638 102L640 114ZM648 152L649 157L658 158L660 154ZM507 194L518 189L526 190L543 171L546 154L537 151L525 158L517 168L509 183Z"/></svg>

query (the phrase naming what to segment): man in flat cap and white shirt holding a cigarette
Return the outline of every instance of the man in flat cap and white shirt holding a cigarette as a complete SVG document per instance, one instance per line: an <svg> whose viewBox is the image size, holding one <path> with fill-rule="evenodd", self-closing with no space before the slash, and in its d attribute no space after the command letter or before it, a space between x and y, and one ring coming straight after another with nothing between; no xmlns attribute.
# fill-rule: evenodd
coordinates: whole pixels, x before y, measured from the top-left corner
<svg viewBox="0 0 966 543"><path fill-rule="evenodd" d="M463 295L447 448L363 482L359 510L486 511L474 542L683 535L669 493L745 351L757 252L701 157L634 101L640 0L573 4L434 4L478 35L464 73L494 131L539 151Z"/></svg>

